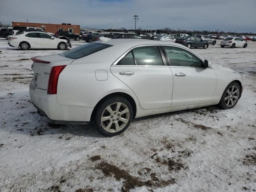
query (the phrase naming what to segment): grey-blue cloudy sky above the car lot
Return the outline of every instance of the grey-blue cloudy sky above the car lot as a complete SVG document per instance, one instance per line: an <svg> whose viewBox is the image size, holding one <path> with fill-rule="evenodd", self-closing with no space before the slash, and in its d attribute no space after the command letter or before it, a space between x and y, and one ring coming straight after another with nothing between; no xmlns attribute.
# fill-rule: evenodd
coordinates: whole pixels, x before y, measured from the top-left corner
<svg viewBox="0 0 256 192"><path fill-rule="evenodd" d="M256 0L0 0L0 22L256 33Z"/></svg>

